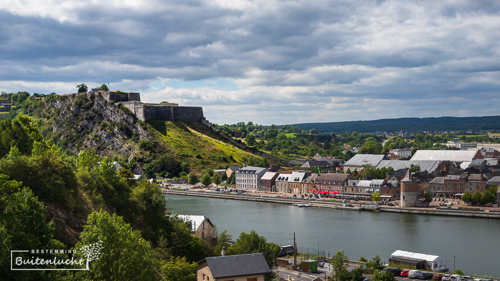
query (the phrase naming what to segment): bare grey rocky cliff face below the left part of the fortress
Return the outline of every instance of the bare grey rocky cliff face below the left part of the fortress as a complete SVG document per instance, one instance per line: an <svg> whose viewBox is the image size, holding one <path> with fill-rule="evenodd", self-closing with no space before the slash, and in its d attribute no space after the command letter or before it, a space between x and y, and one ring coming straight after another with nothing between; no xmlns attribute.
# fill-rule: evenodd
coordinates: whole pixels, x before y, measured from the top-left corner
<svg viewBox="0 0 500 281"><path fill-rule="evenodd" d="M129 140L149 137L143 123L126 108L124 111L96 94L47 99L28 113L45 120L44 135L76 153L94 147L101 156L119 154L130 159L135 145Z"/></svg>

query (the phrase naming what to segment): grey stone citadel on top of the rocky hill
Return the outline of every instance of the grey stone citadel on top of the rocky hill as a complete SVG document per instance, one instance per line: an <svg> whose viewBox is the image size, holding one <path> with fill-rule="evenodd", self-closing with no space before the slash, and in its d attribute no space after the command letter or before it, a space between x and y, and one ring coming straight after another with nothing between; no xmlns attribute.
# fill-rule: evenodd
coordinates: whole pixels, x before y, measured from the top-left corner
<svg viewBox="0 0 500 281"><path fill-rule="evenodd" d="M179 106L177 103L143 103L138 92L103 91L99 88L91 89L88 93L95 93L107 101L121 102L142 121L161 119L166 121L192 121L201 123L204 119L201 106ZM85 94L88 94L85 93ZM78 93L72 93L76 96ZM63 95L64 96L64 95Z"/></svg>

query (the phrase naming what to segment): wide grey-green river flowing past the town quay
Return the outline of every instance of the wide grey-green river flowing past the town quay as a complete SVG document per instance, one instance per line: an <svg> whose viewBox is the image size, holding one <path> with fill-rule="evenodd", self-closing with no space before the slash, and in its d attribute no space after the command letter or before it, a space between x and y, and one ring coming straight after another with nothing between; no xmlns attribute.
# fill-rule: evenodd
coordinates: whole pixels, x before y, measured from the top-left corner
<svg viewBox="0 0 500 281"><path fill-rule="evenodd" d="M453 271L500 277L500 220L391 212L351 211L321 207L298 208L281 203L164 194L167 209L176 214L205 215L219 232L233 240L252 229L268 242L297 248L337 250L353 260L376 254L387 262L397 250L439 255Z"/></svg>

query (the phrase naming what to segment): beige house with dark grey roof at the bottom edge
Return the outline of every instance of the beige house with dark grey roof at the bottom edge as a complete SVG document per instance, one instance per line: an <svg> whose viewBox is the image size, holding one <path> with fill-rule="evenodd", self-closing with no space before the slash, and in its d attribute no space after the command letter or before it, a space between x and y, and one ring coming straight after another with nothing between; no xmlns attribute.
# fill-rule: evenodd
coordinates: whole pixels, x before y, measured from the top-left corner
<svg viewBox="0 0 500 281"><path fill-rule="evenodd" d="M197 281L263 281L272 270L262 253L207 257L198 261Z"/></svg>

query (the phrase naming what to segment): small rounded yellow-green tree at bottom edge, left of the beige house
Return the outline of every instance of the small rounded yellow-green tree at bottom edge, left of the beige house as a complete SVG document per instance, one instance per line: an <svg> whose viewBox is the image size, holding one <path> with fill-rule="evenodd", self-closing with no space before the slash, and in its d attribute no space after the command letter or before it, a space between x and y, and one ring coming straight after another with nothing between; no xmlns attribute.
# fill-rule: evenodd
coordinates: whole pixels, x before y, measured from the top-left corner
<svg viewBox="0 0 500 281"><path fill-rule="evenodd" d="M196 279L198 264L189 262L185 257L170 257L161 267L163 278L168 281L192 281Z"/></svg>

